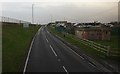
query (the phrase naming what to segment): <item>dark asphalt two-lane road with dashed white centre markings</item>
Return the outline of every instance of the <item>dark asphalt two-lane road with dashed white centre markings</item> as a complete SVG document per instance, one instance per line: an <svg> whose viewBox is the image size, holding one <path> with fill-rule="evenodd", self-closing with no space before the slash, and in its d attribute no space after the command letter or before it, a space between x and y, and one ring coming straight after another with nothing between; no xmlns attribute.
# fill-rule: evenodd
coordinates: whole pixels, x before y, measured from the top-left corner
<svg viewBox="0 0 120 74"><path fill-rule="evenodd" d="M24 72L100 72L42 26L30 47Z"/></svg>

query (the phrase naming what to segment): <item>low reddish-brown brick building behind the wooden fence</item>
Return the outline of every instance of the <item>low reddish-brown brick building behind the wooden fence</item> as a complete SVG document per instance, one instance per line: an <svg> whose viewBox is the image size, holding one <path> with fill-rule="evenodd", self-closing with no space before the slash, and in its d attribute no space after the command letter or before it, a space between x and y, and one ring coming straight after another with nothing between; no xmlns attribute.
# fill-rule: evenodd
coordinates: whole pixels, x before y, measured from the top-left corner
<svg viewBox="0 0 120 74"><path fill-rule="evenodd" d="M109 27L77 27L75 35L81 39L110 40Z"/></svg>

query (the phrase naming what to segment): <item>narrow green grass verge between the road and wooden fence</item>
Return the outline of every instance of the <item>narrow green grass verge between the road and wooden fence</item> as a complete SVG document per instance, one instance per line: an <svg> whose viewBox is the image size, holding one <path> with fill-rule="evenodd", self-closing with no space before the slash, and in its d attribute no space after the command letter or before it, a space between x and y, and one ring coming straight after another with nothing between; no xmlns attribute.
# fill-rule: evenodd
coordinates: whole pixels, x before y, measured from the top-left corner
<svg viewBox="0 0 120 74"><path fill-rule="evenodd" d="M81 50L83 50L88 55L92 55L96 58L101 58L101 59L106 59L106 58L115 59L113 57L107 57L104 53L98 52L95 49L82 44L82 42L80 42L80 40L78 38L76 38L74 35L57 32L53 27L48 27L48 29L51 33L57 34L58 36L60 36L67 42L71 43L72 45L79 47ZM65 36L64 36L64 34L65 34Z"/></svg>

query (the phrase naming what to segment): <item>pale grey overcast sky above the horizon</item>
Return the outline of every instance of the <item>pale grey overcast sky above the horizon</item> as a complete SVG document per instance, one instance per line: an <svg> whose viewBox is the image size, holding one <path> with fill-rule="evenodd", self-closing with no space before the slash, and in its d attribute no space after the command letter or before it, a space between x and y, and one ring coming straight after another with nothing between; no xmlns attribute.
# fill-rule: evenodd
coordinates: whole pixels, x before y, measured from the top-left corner
<svg viewBox="0 0 120 74"><path fill-rule="evenodd" d="M31 22L34 4L34 22L48 23L56 20L69 22L110 22L118 20L117 2L67 1L67 2L4 2L2 15Z"/></svg>

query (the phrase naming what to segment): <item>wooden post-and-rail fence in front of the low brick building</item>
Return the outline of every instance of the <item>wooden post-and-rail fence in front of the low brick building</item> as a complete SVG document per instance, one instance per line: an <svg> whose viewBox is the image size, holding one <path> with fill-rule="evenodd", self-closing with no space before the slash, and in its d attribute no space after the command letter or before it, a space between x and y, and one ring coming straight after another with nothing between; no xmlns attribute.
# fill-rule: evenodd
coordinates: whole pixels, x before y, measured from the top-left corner
<svg viewBox="0 0 120 74"><path fill-rule="evenodd" d="M75 38L78 39L78 41L81 42L82 44L89 46L98 52L104 53L107 56L120 56L120 52L114 51L115 49L111 48L110 46L105 46L105 45L102 45L102 44L99 44L99 43L96 43L94 41L90 41L87 39L80 39L80 38L75 37L74 35L71 35L68 33L67 33L67 35L71 36L71 38L74 40L75 40Z"/></svg>

